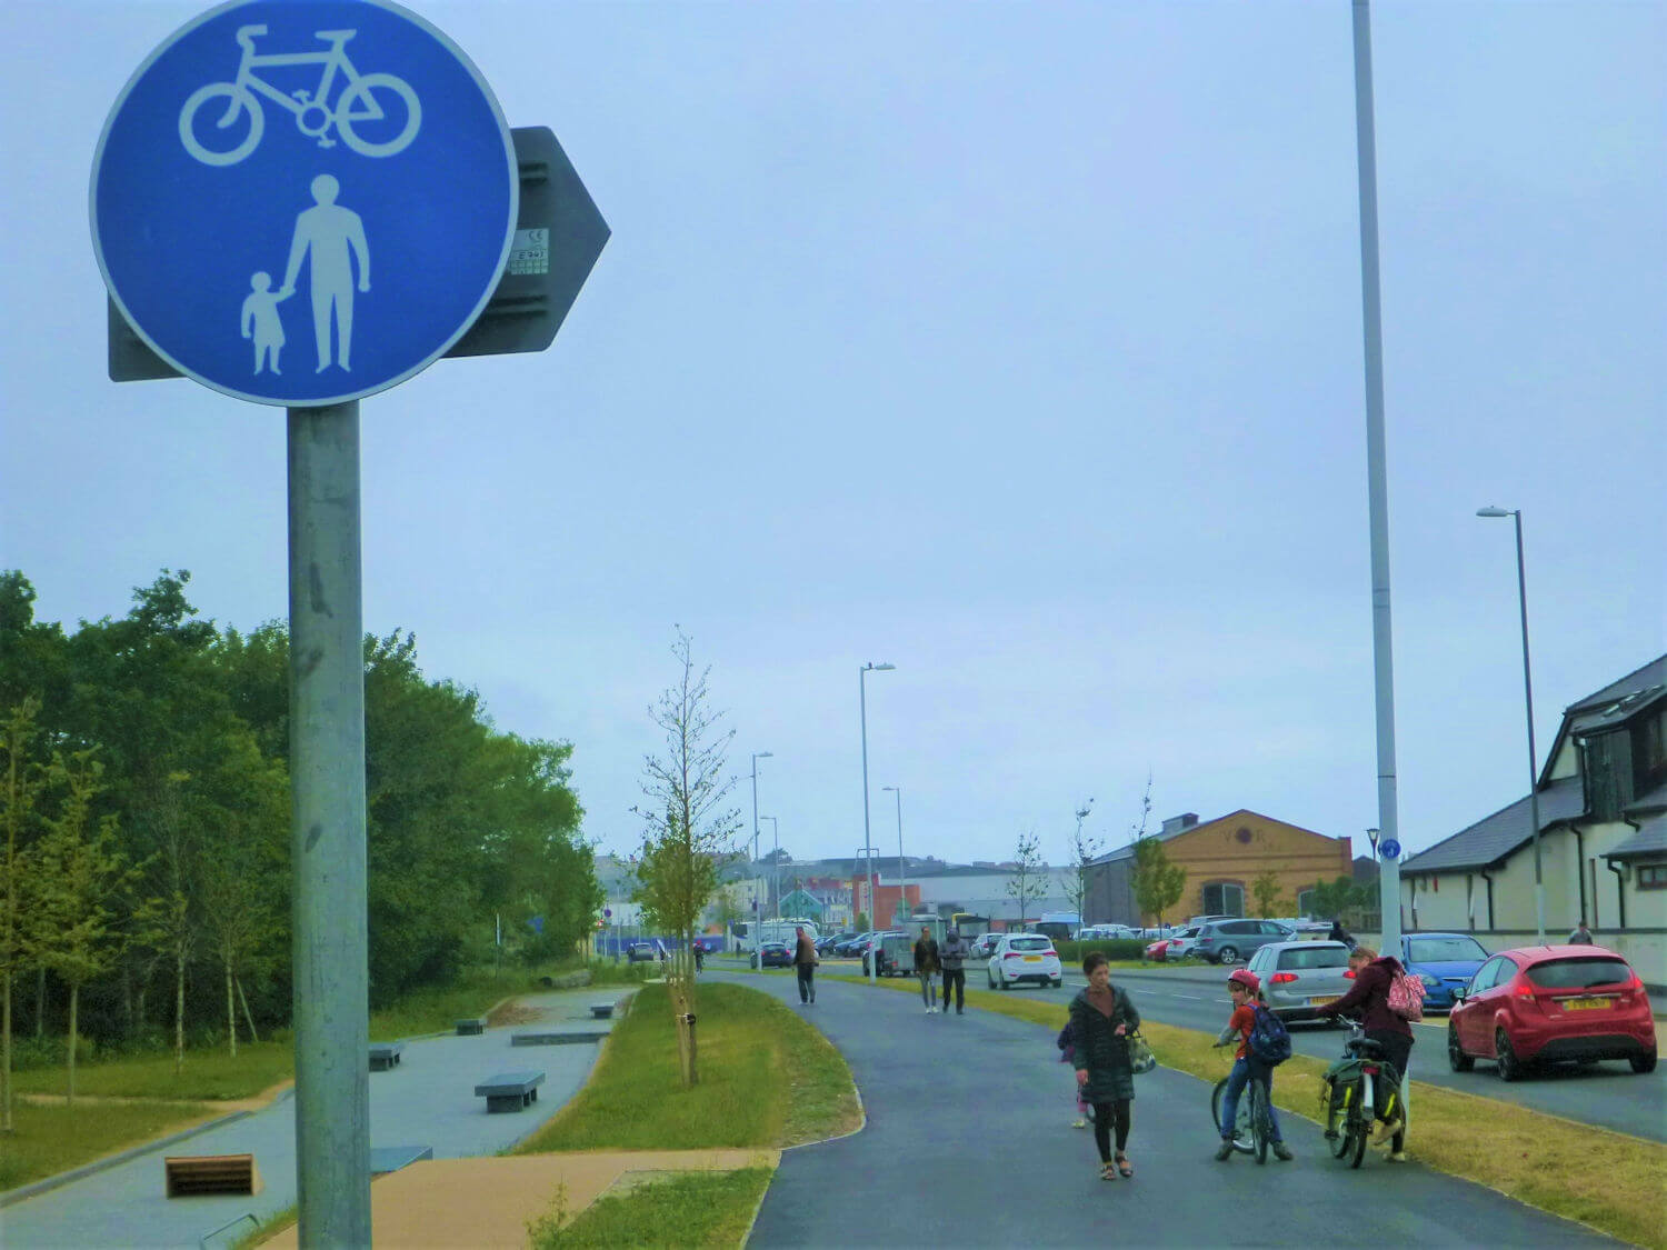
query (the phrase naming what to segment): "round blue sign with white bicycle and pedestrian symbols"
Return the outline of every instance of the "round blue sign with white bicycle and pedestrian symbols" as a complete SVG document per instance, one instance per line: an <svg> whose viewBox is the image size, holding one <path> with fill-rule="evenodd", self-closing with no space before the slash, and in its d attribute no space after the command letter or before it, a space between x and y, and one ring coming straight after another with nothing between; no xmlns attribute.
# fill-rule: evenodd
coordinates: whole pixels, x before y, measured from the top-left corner
<svg viewBox="0 0 1667 1250"><path fill-rule="evenodd" d="M503 113L443 33L385 0L227 3L138 68L93 157L93 250L163 360L287 407L428 367L515 235Z"/></svg>

